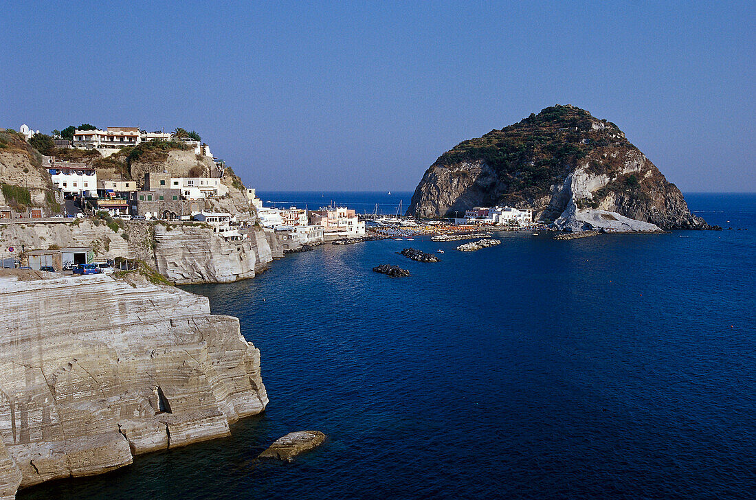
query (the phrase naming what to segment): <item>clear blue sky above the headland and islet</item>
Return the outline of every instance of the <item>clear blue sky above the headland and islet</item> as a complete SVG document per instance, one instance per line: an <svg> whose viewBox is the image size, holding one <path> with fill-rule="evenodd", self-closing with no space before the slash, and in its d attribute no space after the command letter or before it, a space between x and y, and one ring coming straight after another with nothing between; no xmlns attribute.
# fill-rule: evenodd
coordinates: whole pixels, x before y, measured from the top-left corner
<svg viewBox="0 0 756 500"><path fill-rule="evenodd" d="M756 191L756 2L12 2L0 127L199 132L259 190L414 190L555 103Z"/></svg>

